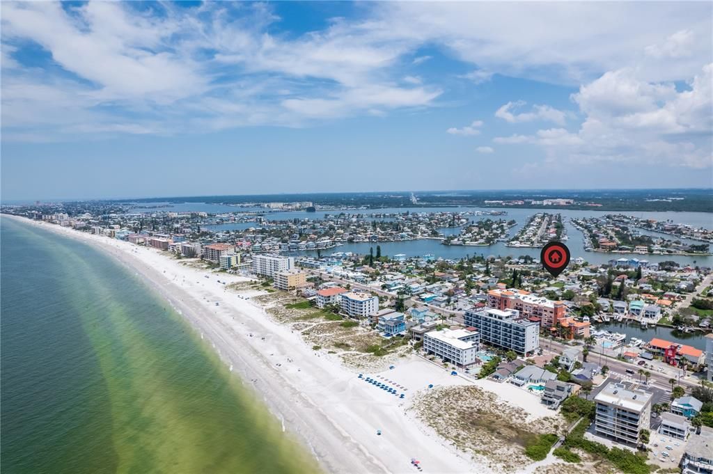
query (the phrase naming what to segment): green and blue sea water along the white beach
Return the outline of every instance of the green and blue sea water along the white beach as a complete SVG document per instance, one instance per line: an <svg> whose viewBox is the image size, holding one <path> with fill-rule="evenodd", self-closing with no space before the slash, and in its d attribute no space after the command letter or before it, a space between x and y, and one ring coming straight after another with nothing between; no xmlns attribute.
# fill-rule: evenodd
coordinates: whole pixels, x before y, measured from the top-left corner
<svg viewBox="0 0 713 474"><path fill-rule="evenodd" d="M111 257L0 220L4 473L312 473L312 456Z"/></svg>

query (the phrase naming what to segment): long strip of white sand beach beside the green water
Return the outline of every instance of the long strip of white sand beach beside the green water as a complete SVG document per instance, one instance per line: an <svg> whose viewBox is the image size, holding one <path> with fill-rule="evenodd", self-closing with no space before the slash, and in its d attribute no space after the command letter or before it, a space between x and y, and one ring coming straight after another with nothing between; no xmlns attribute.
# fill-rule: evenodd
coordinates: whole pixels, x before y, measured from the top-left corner
<svg viewBox="0 0 713 474"><path fill-rule="evenodd" d="M401 400L361 381L333 358L312 351L299 334L272 321L250 299L217 282L245 278L200 271L164 252L129 242L21 220L104 249L143 277L212 341L246 384L257 379L252 383L257 393L284 426L312 449L325 470L415 473L411 458L418 458L425 473L490 472L409 416L410 396ZM468 383L415 357L381 375L409 388L409 394L428 383ZM381 436L376 436L377 429Z"/></svg>

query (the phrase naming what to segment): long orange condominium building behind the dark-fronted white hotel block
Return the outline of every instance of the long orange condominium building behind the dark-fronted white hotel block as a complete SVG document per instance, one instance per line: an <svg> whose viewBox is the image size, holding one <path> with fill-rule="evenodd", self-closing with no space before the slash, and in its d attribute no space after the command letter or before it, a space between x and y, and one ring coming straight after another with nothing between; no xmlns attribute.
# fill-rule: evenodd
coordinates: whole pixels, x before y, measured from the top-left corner
<svg viewBox="0 0 713 474"><path fill-rule="evenodd" d="M522 289L491 289L488 306L496 309L517 309L523 318L538 318L543 327L556 326L567 314L564 302L537 297Z"/></svg>

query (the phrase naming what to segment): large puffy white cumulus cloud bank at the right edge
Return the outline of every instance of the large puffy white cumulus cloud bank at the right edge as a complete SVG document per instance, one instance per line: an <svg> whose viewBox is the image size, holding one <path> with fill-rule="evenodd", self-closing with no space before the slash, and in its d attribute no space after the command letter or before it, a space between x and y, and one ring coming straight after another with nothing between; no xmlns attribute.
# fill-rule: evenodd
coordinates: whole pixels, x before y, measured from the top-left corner
<svg viewBox="0 0 713 474"><path fill-rule="evenodd" d="M556 163L710 168L712 84L713 63L683 91L672 84L641 81L630 69L610 71L573 94L585 115L578 131L550 128L493 141L538 145L547 160Z"/></svg>

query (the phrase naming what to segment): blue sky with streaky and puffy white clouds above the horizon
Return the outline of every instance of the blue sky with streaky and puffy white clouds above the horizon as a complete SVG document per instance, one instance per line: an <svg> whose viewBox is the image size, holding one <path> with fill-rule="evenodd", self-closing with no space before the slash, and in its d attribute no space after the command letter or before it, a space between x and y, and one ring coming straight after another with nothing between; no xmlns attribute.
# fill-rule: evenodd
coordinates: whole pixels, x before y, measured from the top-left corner
<svg viewBox="0 0 713 474"><path fill-rule="evenodd" d="M713 187L713 3L3 1L2 200Z"/></svg>

